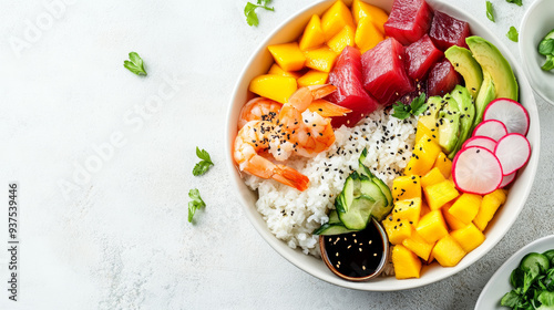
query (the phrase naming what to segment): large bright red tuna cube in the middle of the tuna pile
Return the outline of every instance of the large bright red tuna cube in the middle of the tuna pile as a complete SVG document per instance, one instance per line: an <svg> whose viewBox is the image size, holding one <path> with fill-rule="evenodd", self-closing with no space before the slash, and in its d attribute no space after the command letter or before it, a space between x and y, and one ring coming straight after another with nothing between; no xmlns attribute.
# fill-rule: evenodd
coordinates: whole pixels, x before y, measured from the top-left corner
<svg viewBox="0 0 554 310"><path fill-rule="evenodd" d="M393 38L361 55L363 87L381 104L390 104L416 90L404 68L404 46Z"/></svg>

